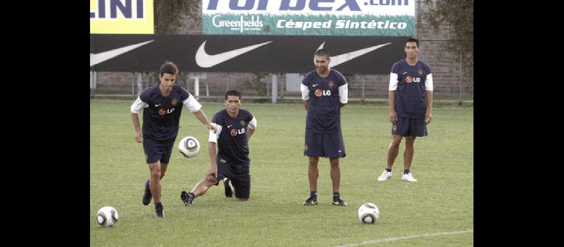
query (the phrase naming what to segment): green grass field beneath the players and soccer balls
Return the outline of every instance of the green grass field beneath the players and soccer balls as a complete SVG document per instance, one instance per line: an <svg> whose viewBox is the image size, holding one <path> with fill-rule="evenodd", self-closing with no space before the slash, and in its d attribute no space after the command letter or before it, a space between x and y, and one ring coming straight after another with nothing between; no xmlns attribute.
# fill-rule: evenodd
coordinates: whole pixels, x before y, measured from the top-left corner
<svg viewBox="0 0 564 247"><path fill-rule="evenodd" d="M195 136L196 158L174 151L162 179L166 218L153 203L141 203L149 177L143 146L134 140L132 101L90 101L90 246L472 246L474 241L473 107L434 107L429 136L417 138L411 171L418 182L401 181L404 143L393 177L378 182L391 141L387 106L347 105L341 112L347 157L341 159L341 197L333 206L329 159L319 161L318 205L309 196L303 156L303 105L243 104L257 118L250 140L251 189L244 203L226 198L223 185L184 206L209 169L208 131L183 109L177 142ZM202 103L211 120L223 104ZM140 114L142 115L142 114ZM142 118L141 118L142 120ZM174 150L177 148L174 147ZM358 207L380 209L376 224L362 224ZM114 227L100 227L96 212L113 206Z"/></svg>

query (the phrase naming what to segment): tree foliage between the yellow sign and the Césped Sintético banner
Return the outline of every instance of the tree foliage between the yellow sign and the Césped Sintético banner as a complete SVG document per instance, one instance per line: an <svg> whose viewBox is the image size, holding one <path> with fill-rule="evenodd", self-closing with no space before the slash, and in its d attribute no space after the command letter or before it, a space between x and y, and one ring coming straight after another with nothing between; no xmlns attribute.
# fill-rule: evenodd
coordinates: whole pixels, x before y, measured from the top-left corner
<svg viewBox="0 0 564 247"><path fill-rule="evenodd" d="M155 34L175 34L186 16L199 21L200 0L155 0Z"/></svg>

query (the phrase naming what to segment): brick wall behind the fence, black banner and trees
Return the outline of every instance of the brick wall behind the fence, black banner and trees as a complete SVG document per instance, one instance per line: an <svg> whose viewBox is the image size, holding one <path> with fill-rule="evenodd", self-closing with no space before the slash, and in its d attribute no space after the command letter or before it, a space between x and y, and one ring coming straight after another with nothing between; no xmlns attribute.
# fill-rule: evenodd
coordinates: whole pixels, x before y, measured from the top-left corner
<svg viewBox="0 0 564 247"><path fill-rule="evenodd" d="M423 1L417 1L415 38L420 40L420 60L429 64L433 73L434 95L458 96L461 93L467 97L472 97L474 93L473 75L464 75L461 80L461 65L460 62L455 61L457 55L442 48L450 34L449 26L443 25L439 30L433 30L418 18L419 12L427 11L433 7L433 5L425 5ZM201 16L201 2L199 16ZM201 21L195 21L187 16L183 20L183 25L178 29L178 34L202 34ZM360 97L364 84L365 97L387 98L389 75L355 74L346 76L349 80L350 97ZM129 92L131 92L132 73L98 72L97 77L98 88L129 88ZM200 95L206 95L206 82L210 95L221 96L226 89L237 89L244 95L255 95L256 91L245 86L245 81L252 80L253 77L253 73L207 73L206 79L200 80ZM187 87L189 92L193 93L193 80L188 80L188 83L186 78L179 78L178 81L182 83L183 87ZM144 73L144 84L154 85L153 81L147 82L147 80L154 79L155 73ZM268 75L263 78L263 81L268 83L270 87L271 76ZM279 95L299 95L296 92L285 92L285 74L281 74L278 78L278 92Z"/></svg>

